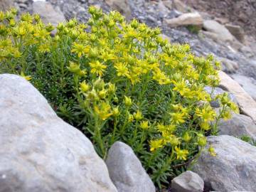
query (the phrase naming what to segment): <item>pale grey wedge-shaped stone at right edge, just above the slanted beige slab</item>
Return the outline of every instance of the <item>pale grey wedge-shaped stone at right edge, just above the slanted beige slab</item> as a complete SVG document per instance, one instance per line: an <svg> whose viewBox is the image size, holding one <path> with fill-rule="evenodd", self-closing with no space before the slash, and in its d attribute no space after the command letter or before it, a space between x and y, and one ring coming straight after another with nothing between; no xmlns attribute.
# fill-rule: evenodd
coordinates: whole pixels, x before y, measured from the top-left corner
<svg viewBox="0 0 256 192"><path fill-rule="evenodd" d="M256 101L256 80L239 74L231 77Z"/></svg>

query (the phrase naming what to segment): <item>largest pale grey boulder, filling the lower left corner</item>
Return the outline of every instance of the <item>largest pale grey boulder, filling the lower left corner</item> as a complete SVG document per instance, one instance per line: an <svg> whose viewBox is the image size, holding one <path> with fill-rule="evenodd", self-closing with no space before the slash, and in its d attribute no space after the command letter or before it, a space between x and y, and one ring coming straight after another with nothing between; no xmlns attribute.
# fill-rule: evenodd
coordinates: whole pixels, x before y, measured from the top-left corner
<svg viewBox="0 0 256 192"><path fill-rule="evenodd" d="M117 192L105 162L18 75L0 75L0 191Z"/></svg>

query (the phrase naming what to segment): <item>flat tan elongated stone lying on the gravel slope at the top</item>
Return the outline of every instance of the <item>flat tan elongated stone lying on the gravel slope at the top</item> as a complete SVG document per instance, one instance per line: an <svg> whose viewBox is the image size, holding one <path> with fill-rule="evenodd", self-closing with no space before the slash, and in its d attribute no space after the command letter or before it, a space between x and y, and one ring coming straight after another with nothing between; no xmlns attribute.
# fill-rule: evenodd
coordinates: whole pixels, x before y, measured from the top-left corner
<svg viewBox="0 0 256 192"><path fill-rule="evenodd" d="M178 26L202 26L203 18L197 12L182 14L177 18L165 19L167 25L171 28L175 28Z"/></svg>

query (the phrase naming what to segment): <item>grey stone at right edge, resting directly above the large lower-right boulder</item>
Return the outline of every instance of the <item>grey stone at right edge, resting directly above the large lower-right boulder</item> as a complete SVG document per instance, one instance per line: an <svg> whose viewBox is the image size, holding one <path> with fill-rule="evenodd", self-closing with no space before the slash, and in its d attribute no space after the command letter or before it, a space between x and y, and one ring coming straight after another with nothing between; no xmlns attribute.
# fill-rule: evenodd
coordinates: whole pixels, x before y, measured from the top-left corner
<svg viewBox="0 0 256 192"><path fill-rule="evenodd" d="M232 114L228 120L220 119L218 134L228 134L234 137L249 136L256 140L256 124L250 117L243 114Z"/></svg>

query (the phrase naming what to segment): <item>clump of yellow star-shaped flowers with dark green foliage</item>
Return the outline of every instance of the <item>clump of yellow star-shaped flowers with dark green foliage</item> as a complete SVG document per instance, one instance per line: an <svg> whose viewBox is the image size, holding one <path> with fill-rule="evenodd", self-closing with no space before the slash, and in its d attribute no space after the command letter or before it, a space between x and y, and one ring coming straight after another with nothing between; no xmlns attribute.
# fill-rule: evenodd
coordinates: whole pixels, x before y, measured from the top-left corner
<svg viewBox="0 0 256 192"><path fill-rule="evenodd" d="M16 20L16 10L0 11L1 73L30 80L102 158L116 141L132 146L161 188L203 150L218 119L237 110L219 95L217 115L203 90L218 85L220 64L212 55L196 57L187 44L168 43L159 28L127 23L117 11L89 12L86 24L59 23L50 36L55 28L38 15Z"/></svg>

